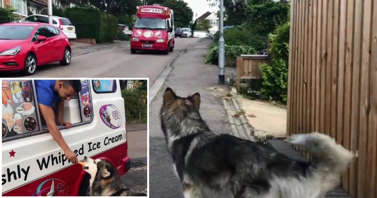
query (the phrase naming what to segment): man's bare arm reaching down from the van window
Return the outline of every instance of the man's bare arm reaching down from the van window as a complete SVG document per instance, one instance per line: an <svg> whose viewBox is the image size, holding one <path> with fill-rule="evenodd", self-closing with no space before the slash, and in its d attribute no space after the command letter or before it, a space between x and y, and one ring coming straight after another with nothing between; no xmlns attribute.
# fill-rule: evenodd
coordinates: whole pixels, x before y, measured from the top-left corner
<svg viewBox="0 0 377 198"><path fill-rule="evenodd" d="M64 102L64 101L63 101ZM39 110L41 111L41 114L44 117L44 120L46 120L47 128L52 136L52 138L55 140L55 142L60 146L60 148L63 151L69 150L69 147L64 140L63 136L60 133L60 130L55 124L55 114L51 107L38 104Z"/></svg>

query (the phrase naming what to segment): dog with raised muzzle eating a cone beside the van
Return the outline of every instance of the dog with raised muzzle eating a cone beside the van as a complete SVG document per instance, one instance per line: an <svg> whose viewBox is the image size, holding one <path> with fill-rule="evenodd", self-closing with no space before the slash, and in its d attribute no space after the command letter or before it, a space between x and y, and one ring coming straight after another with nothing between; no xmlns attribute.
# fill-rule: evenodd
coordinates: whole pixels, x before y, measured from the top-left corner
<svg viewBox="0 0 377 198"><path fill-rule="evenodd" d="M90 196L147 196L123 185L116 168L106 160L84 157L83 169L90 174Z"/></svg>

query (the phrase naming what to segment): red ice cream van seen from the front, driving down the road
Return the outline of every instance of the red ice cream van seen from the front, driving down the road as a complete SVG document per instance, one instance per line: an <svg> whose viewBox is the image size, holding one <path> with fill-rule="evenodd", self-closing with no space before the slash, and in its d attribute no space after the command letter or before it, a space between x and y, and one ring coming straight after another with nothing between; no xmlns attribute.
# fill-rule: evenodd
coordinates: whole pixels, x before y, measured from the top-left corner
<svg viewBox="0 0 377 198"><path fill-rule="evenodd" d="M173 10L155 5L137 6L136 22L130 41L131 54L137 50L159 50L169 54L174 49Z"/></svg>

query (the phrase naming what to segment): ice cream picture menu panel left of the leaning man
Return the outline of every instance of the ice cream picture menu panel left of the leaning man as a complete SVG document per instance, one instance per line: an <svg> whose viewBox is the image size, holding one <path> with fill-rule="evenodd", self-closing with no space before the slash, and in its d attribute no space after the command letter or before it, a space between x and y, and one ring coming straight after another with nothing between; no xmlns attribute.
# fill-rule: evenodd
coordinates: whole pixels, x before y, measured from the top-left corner
<svg viewBox="0 0 377 198"><path fill-rule="evenodd" d="M39 131L32 80L2 80L2 141Z"/></svg>

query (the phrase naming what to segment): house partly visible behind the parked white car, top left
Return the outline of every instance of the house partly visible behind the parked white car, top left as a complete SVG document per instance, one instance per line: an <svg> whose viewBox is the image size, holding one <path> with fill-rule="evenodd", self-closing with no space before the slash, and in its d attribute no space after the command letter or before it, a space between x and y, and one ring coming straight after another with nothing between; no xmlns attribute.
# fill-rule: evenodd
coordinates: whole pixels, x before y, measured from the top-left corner
<svg viewBox="0 0 377 198"><path fill-rule="evenodd" d="M0 0L0 6L13 6L17 11L15 14L20 15L20 18L31 14L48 14L48 0ZM53 0L53 3L58 8L63 10L75 6L71 0Z"/></svg>

